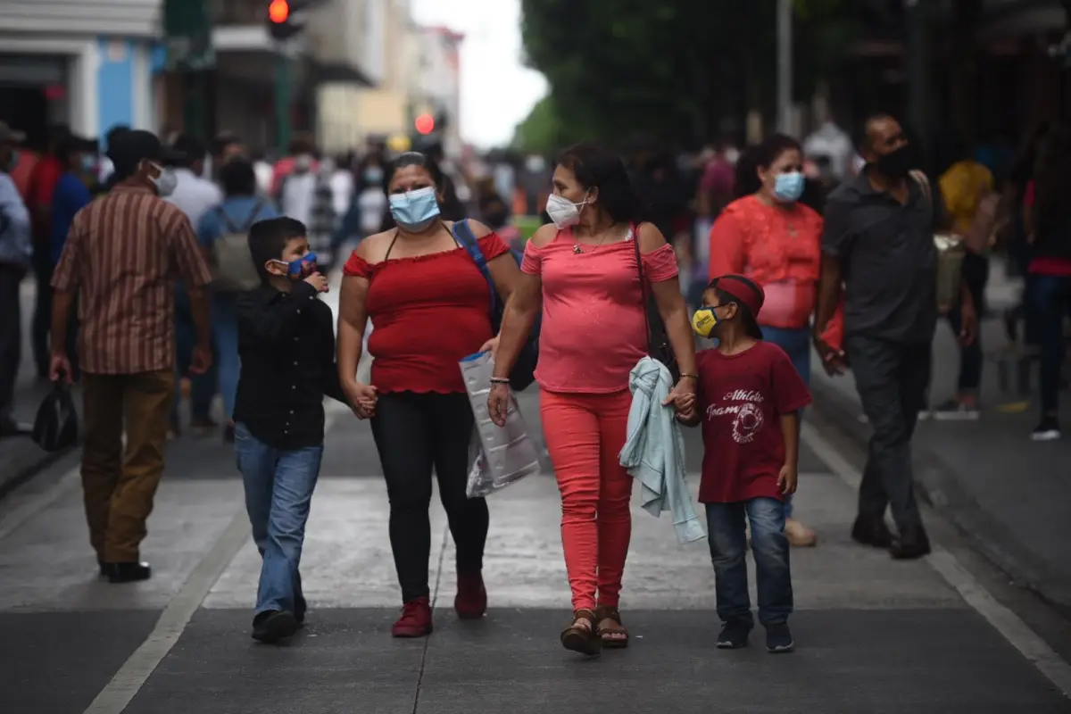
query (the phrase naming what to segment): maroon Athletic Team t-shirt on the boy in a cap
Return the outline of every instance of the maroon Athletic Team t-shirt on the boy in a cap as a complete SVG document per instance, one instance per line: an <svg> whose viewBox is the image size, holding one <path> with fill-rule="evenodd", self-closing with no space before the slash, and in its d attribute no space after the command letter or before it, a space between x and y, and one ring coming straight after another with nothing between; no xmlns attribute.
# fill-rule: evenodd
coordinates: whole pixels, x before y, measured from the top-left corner
<svg viewBox="0 0 1071 714"><path fill-rule="evenodd" d="M776 345L759 341L739 354L696 355L703 428L700 503L782 499L785 465L781 415L811 404L811 393Z"/></svg>

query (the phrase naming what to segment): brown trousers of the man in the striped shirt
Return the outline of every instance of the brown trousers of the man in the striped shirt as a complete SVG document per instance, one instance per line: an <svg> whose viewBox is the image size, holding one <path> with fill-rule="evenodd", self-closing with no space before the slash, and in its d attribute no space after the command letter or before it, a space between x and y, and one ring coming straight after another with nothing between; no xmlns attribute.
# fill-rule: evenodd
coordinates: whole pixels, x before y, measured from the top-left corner
<svg viewBox="0 0 1071 714"><path fill-rule="evenodd" d="M164 443L175 395L171 369L82 375L86 439L81 485L89 541L97 560L138 560L164 473ZM126 451L123 452L123 427Z"/></svg>

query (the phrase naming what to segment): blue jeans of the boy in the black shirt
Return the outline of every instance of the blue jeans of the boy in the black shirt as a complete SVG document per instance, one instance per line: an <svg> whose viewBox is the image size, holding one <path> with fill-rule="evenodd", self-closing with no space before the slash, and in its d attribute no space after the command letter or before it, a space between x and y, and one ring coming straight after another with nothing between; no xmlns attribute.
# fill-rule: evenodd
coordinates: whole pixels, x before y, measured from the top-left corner
<svg viewBox="0 0 1071 714"><path fill-rule="evenodd" d="M323 444L280 451L254 438L244 424L238 424L235 452L245 486L253 541L263 558L256 613L287 610L300 620L305 614L305 598L298 565Z"/></svg>

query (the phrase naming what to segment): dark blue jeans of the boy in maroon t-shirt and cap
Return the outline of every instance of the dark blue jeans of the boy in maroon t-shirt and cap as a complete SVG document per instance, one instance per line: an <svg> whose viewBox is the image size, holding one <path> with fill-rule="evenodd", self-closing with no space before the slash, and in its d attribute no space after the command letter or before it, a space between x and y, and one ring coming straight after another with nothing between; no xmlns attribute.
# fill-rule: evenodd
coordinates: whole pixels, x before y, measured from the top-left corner
<svg viewBox="0 0 1071 714"><path fill-rule="evenodd" d="M722 622L754 624L748 595L748 540L744 516L751 522L751 551L755 557L758 621L782 624L793 612L793 577L785 536L785 504L759 498L738 503L708 503L707 533L714 564L714 592Z"/></svg>

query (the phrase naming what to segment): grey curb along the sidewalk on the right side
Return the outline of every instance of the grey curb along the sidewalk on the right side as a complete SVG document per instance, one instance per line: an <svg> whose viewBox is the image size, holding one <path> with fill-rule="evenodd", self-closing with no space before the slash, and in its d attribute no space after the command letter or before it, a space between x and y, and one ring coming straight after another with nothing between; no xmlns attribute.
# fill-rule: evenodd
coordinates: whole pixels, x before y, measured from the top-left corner
<svg viewBox="0 0 1071 714"><path fill-rule="evenodd" d="M813 409L865 454L870 427L859 421L859 407L817 380L812 382L811 390L815 396ZM1065 617L1071 617L1071 580L1054 577L1051 566L989 515L963 488L947 456L917 442L911 445L911 456L919 498L951 522L1014 584L1034 592Z"/></svg>

